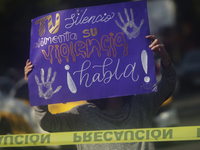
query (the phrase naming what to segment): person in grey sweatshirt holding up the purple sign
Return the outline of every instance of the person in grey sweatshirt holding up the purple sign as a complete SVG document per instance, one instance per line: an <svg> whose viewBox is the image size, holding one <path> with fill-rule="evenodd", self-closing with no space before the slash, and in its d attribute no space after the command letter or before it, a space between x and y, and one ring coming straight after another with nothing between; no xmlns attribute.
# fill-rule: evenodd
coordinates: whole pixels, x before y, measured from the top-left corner
<svg viewBox="0 0 200 150"><path fill-rule="evenodd" d="M176 71L162 42L154 35L148 35L146 38L152 41L150 49L161 58L162 79L157 92L90 100L60 114L51 114L48 105L35 106L36 119L40 126L49 132L151 128L153 116L175 88ZM27 61L24 69L26 80L32 69L33 65ZM78 139L75 139L74 143L76 140ZM151 142L120 143L119 140L119 143L81 144L77 145L77 149L154 150L155 148Z"/></svg>

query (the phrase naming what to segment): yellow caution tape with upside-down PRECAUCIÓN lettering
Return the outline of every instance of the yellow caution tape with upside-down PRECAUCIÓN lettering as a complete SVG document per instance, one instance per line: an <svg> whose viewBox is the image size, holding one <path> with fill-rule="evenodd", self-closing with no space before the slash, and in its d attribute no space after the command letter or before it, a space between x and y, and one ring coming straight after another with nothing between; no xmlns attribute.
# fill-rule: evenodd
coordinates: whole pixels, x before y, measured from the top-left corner
<svg viewBox="0 0 200 150"><path fill-rule="evenodd" d="M0 147L200 140L200 126L0 135Z"/></svg>

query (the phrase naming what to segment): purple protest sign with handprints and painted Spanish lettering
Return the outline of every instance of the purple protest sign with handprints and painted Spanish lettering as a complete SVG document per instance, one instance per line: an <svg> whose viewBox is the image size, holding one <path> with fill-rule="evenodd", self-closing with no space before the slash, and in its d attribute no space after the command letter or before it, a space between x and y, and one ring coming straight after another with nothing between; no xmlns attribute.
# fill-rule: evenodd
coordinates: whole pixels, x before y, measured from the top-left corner
<svg viewBox="0 0 200 150"><path fill-rule="evenodd" d="M146 1L32 20L32 106L156 92Z"/></svg>

